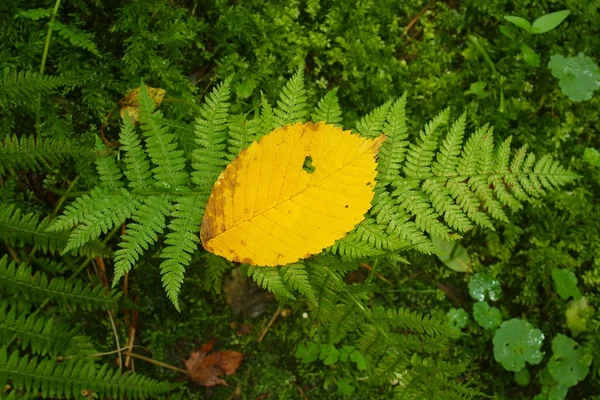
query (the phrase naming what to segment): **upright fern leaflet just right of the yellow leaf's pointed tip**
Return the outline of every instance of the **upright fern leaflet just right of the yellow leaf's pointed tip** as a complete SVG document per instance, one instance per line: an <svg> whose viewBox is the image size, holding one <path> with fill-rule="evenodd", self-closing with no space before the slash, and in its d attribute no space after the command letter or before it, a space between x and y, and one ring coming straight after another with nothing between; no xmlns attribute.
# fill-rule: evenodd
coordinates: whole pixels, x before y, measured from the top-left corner
<svg viewBox="0 0 600 400"><path fill-rule="evenodd" d="M383 133L387 136L379 149L377 181L391 181L400 174L408 146L406 126L406 93L396 100L387 113Z"/></svg>

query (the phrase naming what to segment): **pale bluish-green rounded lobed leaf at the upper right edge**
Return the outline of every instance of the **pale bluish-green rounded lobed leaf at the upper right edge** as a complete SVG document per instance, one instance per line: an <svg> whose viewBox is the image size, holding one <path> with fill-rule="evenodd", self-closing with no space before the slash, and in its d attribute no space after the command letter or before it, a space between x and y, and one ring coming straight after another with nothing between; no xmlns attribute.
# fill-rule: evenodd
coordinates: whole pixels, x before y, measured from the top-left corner
<svg viewBox="0 0 600 400"><path fill-rule="evenodd" d="M554 54L550 57L548 68L558 78L562 93L573 101L591 99L594 90L600 87L598 66L583 53L569 58Z"/></svg>

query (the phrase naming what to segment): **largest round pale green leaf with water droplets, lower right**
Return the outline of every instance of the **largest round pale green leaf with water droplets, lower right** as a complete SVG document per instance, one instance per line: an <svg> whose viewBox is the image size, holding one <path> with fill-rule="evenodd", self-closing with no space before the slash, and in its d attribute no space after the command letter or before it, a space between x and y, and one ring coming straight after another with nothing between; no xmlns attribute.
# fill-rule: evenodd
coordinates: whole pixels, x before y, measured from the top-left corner
<svg viewBox="0 0 600 400"><path fill-rule="evenodd" d="M494 335L494 358L508 371L520 371L525 363L539 364L544 334L529 322L513 318L504 321Z"/></svg>

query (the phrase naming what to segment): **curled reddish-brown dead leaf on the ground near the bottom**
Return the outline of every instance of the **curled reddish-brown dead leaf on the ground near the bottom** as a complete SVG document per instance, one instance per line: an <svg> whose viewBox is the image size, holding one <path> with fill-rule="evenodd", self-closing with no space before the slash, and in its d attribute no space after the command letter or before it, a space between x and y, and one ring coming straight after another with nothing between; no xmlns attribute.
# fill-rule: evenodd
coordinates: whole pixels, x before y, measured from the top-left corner
<svg viewBox="0 0 600 400"><path fill-rule="evenodd" d="M228 386L227 382L220 378L221 375L233 375L244 355L237 351L225 350L208 354L215 344L215 340L202 345L200 351L194 351L190 358L185 361L192 382L202 386Z"/></svg>

